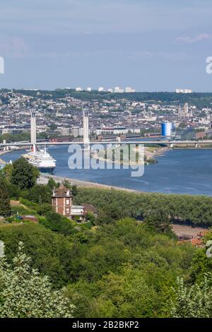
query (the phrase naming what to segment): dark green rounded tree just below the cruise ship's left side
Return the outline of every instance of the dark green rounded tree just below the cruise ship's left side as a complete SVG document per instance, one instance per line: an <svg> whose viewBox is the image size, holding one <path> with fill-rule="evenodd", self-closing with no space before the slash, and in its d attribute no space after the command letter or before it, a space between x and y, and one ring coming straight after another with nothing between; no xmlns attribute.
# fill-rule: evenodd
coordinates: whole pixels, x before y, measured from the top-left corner
<svg viewBox="0 0 212 332"><path fill-rule="evenodd" d="M19 186L20 189L29 189L35 185L39 170L30 165L25 158L20 158L13 162L11 172L11 183Z"/></svg>

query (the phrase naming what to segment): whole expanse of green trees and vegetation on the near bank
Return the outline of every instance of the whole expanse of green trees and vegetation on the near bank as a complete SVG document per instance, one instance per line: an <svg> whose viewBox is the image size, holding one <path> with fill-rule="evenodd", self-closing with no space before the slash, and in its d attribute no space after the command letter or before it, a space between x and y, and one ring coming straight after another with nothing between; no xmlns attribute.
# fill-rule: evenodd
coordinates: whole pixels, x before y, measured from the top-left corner
<svg viewBox="0 0 212 332"><path fill-rule="evenodd" d="M52 211L58 184L36 184L38 175L23 158L1 170L1 317L212 317L212 259L204 247L179 245L171 229L173 221L210 227L212 198L73 186L74 203L98 208L79 224ZM17 213L38 223L20 224ZM58 295L49 314L46 294L49 303Z"/></svg>

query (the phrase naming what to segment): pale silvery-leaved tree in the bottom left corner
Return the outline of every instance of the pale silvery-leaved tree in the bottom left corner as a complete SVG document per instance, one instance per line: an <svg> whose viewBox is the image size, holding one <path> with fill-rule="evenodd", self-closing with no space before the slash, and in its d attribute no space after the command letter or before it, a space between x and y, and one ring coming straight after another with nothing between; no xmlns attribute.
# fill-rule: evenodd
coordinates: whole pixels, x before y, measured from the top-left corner
<svg viewBox="0 0 212 332"><path fill-rule="evenodd" d="M65 290L53 291L49 278L30 268L23 242L19 242L13 266L0 260L0 298L1 318L72 317L73 305Z"/></svg>

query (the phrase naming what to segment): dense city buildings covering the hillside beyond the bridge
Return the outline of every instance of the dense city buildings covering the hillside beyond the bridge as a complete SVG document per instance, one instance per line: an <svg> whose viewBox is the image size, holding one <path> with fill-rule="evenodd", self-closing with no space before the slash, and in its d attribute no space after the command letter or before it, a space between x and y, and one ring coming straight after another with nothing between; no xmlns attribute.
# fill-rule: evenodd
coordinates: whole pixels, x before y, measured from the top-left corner
<svg viewBox="0 0 212 332"><path fill-rule="evenodd" d="M187 102L184 96L193 94L180 93L173 99L175 93L167 93L167 97L165 93L158 93L157 100L153 100L151 94L141 100L141 93L73 91L1 90L1 141L11 140L17 134L27 137L30 121L35 121L33 117L30 120L31 109L36 110L37 138L82 137L84 107L90 113L91 139L112 135L160 136L162 123L173 124L172 138L176 135L189 139L211 136L212 108L210 102L206 104L204 96L202 101L199 97L197 102L195 98Z"/></svg>

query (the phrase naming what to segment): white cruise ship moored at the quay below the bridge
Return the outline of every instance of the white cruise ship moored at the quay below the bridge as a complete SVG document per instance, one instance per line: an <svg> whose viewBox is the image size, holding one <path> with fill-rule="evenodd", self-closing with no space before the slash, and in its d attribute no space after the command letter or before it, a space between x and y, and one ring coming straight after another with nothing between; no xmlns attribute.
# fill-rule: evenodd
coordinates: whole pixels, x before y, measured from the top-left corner
<svg viewBox="0 0 212 332"><path fill-rule="evenodd" d="M23 155L23 158L28 160L31 165L37 167L40 172L52 173L56 167L57 160L47 153L46 147L44 150L39 151L36 151L35 147L33 147L33 151Z"/></svg>

